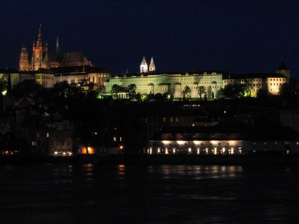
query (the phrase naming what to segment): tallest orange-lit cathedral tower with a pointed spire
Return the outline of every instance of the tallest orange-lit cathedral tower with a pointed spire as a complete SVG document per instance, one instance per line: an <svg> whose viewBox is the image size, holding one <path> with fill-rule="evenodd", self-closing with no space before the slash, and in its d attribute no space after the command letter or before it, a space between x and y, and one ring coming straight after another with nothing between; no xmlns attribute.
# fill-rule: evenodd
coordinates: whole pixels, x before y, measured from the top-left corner
<svg viewBox="0 0 299 224"><path fill-rule="evenodd" d="M32 47L32 70L36 71L39 68L48 68L47 62L44 57L48 52L47 43L44 45L42 40L41 24L39 24L39 32L36 44L33 42Z"/></svg>

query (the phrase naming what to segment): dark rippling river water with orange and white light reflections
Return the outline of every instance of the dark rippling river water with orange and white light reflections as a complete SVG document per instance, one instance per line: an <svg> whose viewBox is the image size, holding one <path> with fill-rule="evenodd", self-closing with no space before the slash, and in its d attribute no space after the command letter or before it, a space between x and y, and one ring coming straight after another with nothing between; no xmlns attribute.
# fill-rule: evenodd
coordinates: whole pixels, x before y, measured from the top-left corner
<svg viewBox="0 0 299 224"><path fill-rule="evenodd" d="M289 224L299 166L0 165L1 224Z"/></svg>

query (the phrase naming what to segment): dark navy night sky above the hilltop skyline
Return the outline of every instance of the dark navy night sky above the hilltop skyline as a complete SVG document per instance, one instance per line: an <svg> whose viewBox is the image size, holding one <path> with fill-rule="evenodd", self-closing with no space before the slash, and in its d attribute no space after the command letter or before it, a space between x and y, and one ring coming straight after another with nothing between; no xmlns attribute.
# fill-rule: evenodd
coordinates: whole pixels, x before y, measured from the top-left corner
<svg viewBox="0 0 299 224"><path fill-rule="evenodd" d="M39 24L49 51L80 51L112 73L228 69L299 78L299 1L0 1L0 67L31 54Z"/></svg>

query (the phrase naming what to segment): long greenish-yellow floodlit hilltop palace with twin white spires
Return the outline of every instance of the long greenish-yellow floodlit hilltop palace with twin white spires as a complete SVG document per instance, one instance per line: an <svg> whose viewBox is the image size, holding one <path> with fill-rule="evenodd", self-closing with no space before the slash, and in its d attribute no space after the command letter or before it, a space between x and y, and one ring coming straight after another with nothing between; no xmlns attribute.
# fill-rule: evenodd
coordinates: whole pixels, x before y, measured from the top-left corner
<svg viewBox="0 0 299 224"><path fill-rule="evenodd" d="M267 89L270 94L277 95L283 83L289 81L290 70L284 63L280 65L276 73L232 74L222 70L203 70L188 72L155 72L155 65L151 58L150 69L143 58L140 73L117 74L105 83L109 92L113 85L127 88L135 84L137 93L140 94L171 94L174 98L182 98L185 86L190 87L191 97L199 98L198 88L204 86L216 95L217 91L228 84L245 83L251 89L251 96L256 97L259 89ZM203 97L203 96L202 96Z"/></svg>

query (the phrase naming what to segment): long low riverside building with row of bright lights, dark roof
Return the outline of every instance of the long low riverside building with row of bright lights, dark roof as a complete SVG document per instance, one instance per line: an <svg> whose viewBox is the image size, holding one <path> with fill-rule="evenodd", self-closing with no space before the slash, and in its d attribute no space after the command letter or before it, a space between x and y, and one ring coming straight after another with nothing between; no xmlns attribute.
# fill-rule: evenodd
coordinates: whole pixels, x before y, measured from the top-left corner
<svg viewBox="0 0 299 224"><path fill-rule="evenodd" d="M168 127L151 140L148 154L299 153L299 133L281 127L215 125Z"/></svg>

